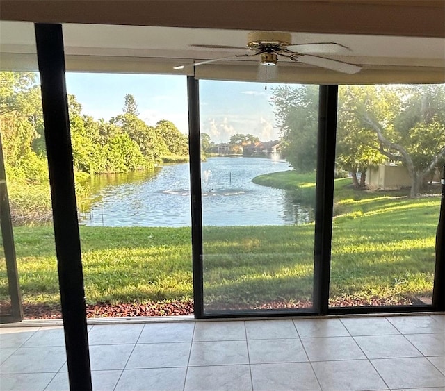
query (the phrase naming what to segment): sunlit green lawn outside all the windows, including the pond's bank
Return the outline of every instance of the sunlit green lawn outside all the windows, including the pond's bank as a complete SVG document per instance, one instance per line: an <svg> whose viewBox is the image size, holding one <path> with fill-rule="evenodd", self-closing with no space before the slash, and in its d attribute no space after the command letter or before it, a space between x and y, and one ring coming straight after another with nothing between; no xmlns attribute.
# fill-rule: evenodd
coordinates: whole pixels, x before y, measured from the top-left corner
<svg viewBox="0 0 445 391"><path fill-rule="evenodd" d="M285 172L255 181L293 186L303 197L314 191L313 174ZM348 178L336 180L335 188L332 303L431 296L439 197L356 191ZM88 303L193 297L190 228L81 226L80 232ZM20 226L14 233L24 303L58 303L52 228ZM252 308L312 300L313 223L204 227L203 242L206 303ZM5 297L4 261L1 265L0 294Z"/></svg>

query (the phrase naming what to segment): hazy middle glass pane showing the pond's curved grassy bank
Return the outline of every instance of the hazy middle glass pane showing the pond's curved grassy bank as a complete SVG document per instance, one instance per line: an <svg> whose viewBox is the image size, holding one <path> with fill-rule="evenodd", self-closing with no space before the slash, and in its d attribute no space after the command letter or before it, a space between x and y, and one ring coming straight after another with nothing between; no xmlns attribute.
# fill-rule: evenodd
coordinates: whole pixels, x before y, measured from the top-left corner
<svg viewBox="0 0 445 391"><path fill-rule="evenodd" d="M200 99L204 312L312 307L318 86Z"/></svg>

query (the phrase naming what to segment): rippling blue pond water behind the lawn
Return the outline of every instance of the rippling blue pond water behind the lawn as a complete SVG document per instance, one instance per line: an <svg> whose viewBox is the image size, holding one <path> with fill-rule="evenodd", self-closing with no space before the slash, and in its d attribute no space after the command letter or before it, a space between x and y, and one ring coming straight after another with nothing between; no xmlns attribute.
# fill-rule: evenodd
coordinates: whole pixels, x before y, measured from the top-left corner
<svg viewBox="0 0 445 391"><path fill-rule="evenodd" d="M252 183L260 174L290 169L284 161L218 157L201 166L204 225L302 224L313 219L312 209L294 204L285 190ZM164 165L149 173L95 176L81 224L190 226L189 177L188 163Z"/></svg>

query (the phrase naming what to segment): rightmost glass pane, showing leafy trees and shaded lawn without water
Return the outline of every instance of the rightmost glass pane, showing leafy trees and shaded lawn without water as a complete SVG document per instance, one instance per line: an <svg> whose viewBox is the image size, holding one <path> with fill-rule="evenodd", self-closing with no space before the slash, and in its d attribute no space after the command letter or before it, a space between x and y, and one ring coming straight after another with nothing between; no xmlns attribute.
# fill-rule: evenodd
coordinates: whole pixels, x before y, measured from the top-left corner
<svg viewBox="0 0 445 391"><path fill-rule="evenodd" d="M330 306L431 304L445 85L339 89Z"/></svg>

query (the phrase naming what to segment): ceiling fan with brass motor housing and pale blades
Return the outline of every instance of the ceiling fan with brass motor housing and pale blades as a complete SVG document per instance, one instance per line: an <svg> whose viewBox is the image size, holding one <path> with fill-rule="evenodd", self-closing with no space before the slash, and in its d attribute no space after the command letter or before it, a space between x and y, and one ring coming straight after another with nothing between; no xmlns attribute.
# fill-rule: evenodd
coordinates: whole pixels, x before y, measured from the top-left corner
<svg viewBox="0 0 445 391"><path fill-rule="evenodd" d="M266 66L277 65L278 56L289 58L296 63L314 65L316 67L332 69L345 74L355 74L362 68L358 65L346 63L344 61L332 60L321 54L335 54L350 51L350 49L336 42L316 42L304 44L291 44L290 33L280 33L273 31L252 31L248 34L248 43L245 47L236 47L229 45L212 44L192 44L191 47L200 47L205 49L250 49L254 53L233 54L232 56L214 58L194 63L193 66L215 63L220 60L229 60L231 58L259 56L259 63ZM289 48L294 48L291 50ZM186 65L178 65L174 69L184 69Z"/></svg>

